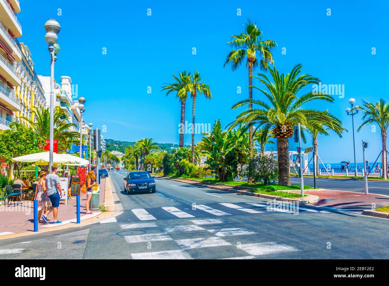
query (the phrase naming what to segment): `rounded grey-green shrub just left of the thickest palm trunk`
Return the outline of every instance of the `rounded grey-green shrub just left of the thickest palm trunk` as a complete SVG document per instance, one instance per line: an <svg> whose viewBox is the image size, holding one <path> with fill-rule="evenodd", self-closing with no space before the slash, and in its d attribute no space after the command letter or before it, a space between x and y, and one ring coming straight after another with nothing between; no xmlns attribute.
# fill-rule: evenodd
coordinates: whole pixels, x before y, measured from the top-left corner
<svg viewBox="0 0 389 286"><path fill-rule="evenodd" d="M244 167L244 174L249 182L273 183L278 177L277 159L270 154L258 152Z"/></svg>

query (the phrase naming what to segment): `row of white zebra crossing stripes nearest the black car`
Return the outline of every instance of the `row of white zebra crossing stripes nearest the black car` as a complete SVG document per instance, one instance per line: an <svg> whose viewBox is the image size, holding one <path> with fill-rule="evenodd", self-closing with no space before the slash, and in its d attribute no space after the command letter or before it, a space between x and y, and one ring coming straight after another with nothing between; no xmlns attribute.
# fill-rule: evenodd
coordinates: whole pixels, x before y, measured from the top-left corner
<svg viewBox="0 0 389 286"><path fill-rule="evenodd" d="M307 207L299 207L296 205L283 204L281 206L273 206L272 204L259 203L213 203L211 205L199 204L176 207L158 207L147 209L131 209L130 212L134 215L135 221L152 221L157 219L174 219L174 218L196 218L205 215L212 216L230 216L241 214L265 214L266 212L283 212L287 214L299 214L303 212L313 213L330 213Z"/></svg>

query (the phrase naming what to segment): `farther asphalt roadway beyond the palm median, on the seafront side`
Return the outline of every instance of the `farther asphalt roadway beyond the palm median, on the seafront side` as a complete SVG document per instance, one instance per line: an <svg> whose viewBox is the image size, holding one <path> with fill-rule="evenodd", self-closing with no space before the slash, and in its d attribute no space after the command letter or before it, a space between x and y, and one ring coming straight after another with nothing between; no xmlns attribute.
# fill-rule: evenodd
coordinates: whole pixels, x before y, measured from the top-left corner
<svg viewBox="0 0 389 286"><path fill-rule="evenodd" d="M300 178L291 177L291 184L300 184ZM304 177L304 184L313 187L314 179L312 177ZM364 181L316 178L316 187L323 189L335 189L339 191L364 193ZM368 181L368 187L369 193L378 195L389 195L389 181Z"/></svg>

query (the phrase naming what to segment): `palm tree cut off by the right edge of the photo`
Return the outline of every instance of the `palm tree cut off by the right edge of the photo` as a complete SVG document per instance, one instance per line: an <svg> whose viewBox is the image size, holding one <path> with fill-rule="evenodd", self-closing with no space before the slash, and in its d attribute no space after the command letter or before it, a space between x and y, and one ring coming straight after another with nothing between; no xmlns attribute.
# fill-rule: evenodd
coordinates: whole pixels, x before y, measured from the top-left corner
<svg viewBox="0 0 389 286"><path fill-rule="evenodd" d="M383 98L380 98L376 104L371 104L370 102L363 100L363 106L359 106L357 109L363 112L363 122L357 129L357 132L361 131L363 126L371 123L376 123L381 129L382 169L384 174L387 174L387 154L385 153L387 152L386 137L387 129L389 127L389 103L386 103Z"/></svg>

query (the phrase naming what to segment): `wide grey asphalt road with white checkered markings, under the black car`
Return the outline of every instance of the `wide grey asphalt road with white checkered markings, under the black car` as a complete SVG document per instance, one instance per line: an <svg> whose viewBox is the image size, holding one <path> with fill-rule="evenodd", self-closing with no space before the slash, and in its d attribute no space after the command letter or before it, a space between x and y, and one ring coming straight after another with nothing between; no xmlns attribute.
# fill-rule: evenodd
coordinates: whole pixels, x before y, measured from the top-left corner
<svg viewBox="0 0 389 286"><path fill-rule="evenodd" d="M389 221L268 205L270 200L156 179L157 192L126 195L103 223L0 240L4 259L368 259L389 257ZM285 207L288 207L287 209ZM76 240L84 243L74 244Z"/></svg>

